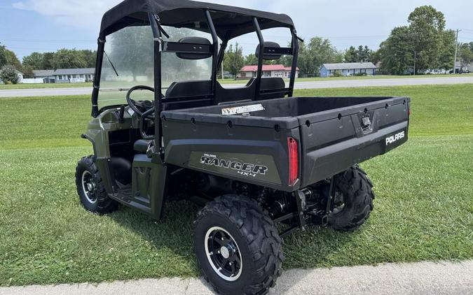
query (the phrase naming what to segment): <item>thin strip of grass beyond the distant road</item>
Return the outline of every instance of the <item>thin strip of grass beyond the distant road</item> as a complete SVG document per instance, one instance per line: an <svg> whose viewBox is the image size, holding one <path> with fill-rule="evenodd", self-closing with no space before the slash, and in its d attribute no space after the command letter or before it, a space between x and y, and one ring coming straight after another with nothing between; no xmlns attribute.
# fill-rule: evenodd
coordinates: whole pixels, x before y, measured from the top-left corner
<svg viewBox="0 0 473 295"><path fill-rule="evenodd" d="M465 77L473 74L463 75L373 75L366 77L329 77L329 78L298 78L296 82L310 82L310 81L329 81L329 80L366 80L366 79L402 79L402 78L445 78L445 77ZM285 79L289 82L289 79ZM245 84L247 80L233 80L224 79L219 80L221 84ZM38 89L38 88L68 88L68 87L92 87L92 83L49 83L49 84L17 84L17 85L3 85L0 84L1 89Z"/></svg>

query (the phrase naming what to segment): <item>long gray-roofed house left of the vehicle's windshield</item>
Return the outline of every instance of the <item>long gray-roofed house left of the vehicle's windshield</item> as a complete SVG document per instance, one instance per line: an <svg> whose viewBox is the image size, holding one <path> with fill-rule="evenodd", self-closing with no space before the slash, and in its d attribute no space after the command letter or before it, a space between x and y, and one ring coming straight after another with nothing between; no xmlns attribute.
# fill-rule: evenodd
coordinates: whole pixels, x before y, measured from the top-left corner
<svg viewBox="0 0 473 295"><path fill-rule="evenodd" d="M57 69L33 71L34 78L46 83L90 82L94 80L95 69Z"/></svg>

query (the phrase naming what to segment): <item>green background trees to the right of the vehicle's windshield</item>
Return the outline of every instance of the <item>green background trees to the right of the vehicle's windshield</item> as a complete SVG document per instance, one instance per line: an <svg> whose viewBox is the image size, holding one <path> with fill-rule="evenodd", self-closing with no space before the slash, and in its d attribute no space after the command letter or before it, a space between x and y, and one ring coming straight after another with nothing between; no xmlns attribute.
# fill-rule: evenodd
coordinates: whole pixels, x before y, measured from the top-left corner
<svg viewBox="0 0 473 295"><path fill-rule="evenodd" d="M473 42L456 44L455 31L445 26L444 13L432 6L420 6L409 15L408 25L392 29L378 50L359 45L340 51L329 39L314 37L300 43L297 66L301 74L308 76L319 75L322 64L339 62L372 62L380 66L381 73L388 75L448 71L453 69L455 45L458 45L458 61L462 67L472 63ZM237 75L244 64L257 64L253 55L243 57L238 44L228 48L227 55L224 69L232 75ZM292 57L282 57L277 62L290 66Z"/></svg>

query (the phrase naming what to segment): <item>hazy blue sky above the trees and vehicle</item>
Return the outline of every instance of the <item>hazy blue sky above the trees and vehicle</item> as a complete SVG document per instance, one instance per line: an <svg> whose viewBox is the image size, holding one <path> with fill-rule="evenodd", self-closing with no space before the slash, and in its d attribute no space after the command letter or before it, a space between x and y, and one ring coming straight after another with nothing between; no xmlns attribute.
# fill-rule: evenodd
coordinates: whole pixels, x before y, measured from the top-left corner
<svg viewBox="0 0 473 295"><path fill-rule="evenodd" d="M350 45L378 48L409 13L432 5L446 15L448 29L466 29L460 41L473 41L471 0L207 0L290 15L303 38L323 36L340 50ZM60 48L95 49L103 13L120 0L1 0L0 42L21 59L31 52ZM469 30L469 31L467 31ZM280 34L273 35L283 43ZM245 42L245 41L243 41ZM250 42L249 47L255 47ZM245 46L245 45L244 45ZM254 50L254 49L252 49ZM247 50L245 50L247 51Z"/></svg>

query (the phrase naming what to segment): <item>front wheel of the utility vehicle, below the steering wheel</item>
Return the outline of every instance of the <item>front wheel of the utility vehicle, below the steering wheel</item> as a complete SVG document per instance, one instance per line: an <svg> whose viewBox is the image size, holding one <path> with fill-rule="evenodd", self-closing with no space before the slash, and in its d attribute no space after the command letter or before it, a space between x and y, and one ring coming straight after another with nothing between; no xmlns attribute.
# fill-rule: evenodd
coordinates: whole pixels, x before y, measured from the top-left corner
<svg viewBox="0 0 473 295"><path fill-rule="evenodd" d="M105 191L100 172L92 156L84 157L76 167L77 193L85 209L93 213L111 213L118 207Z"/></svg>

